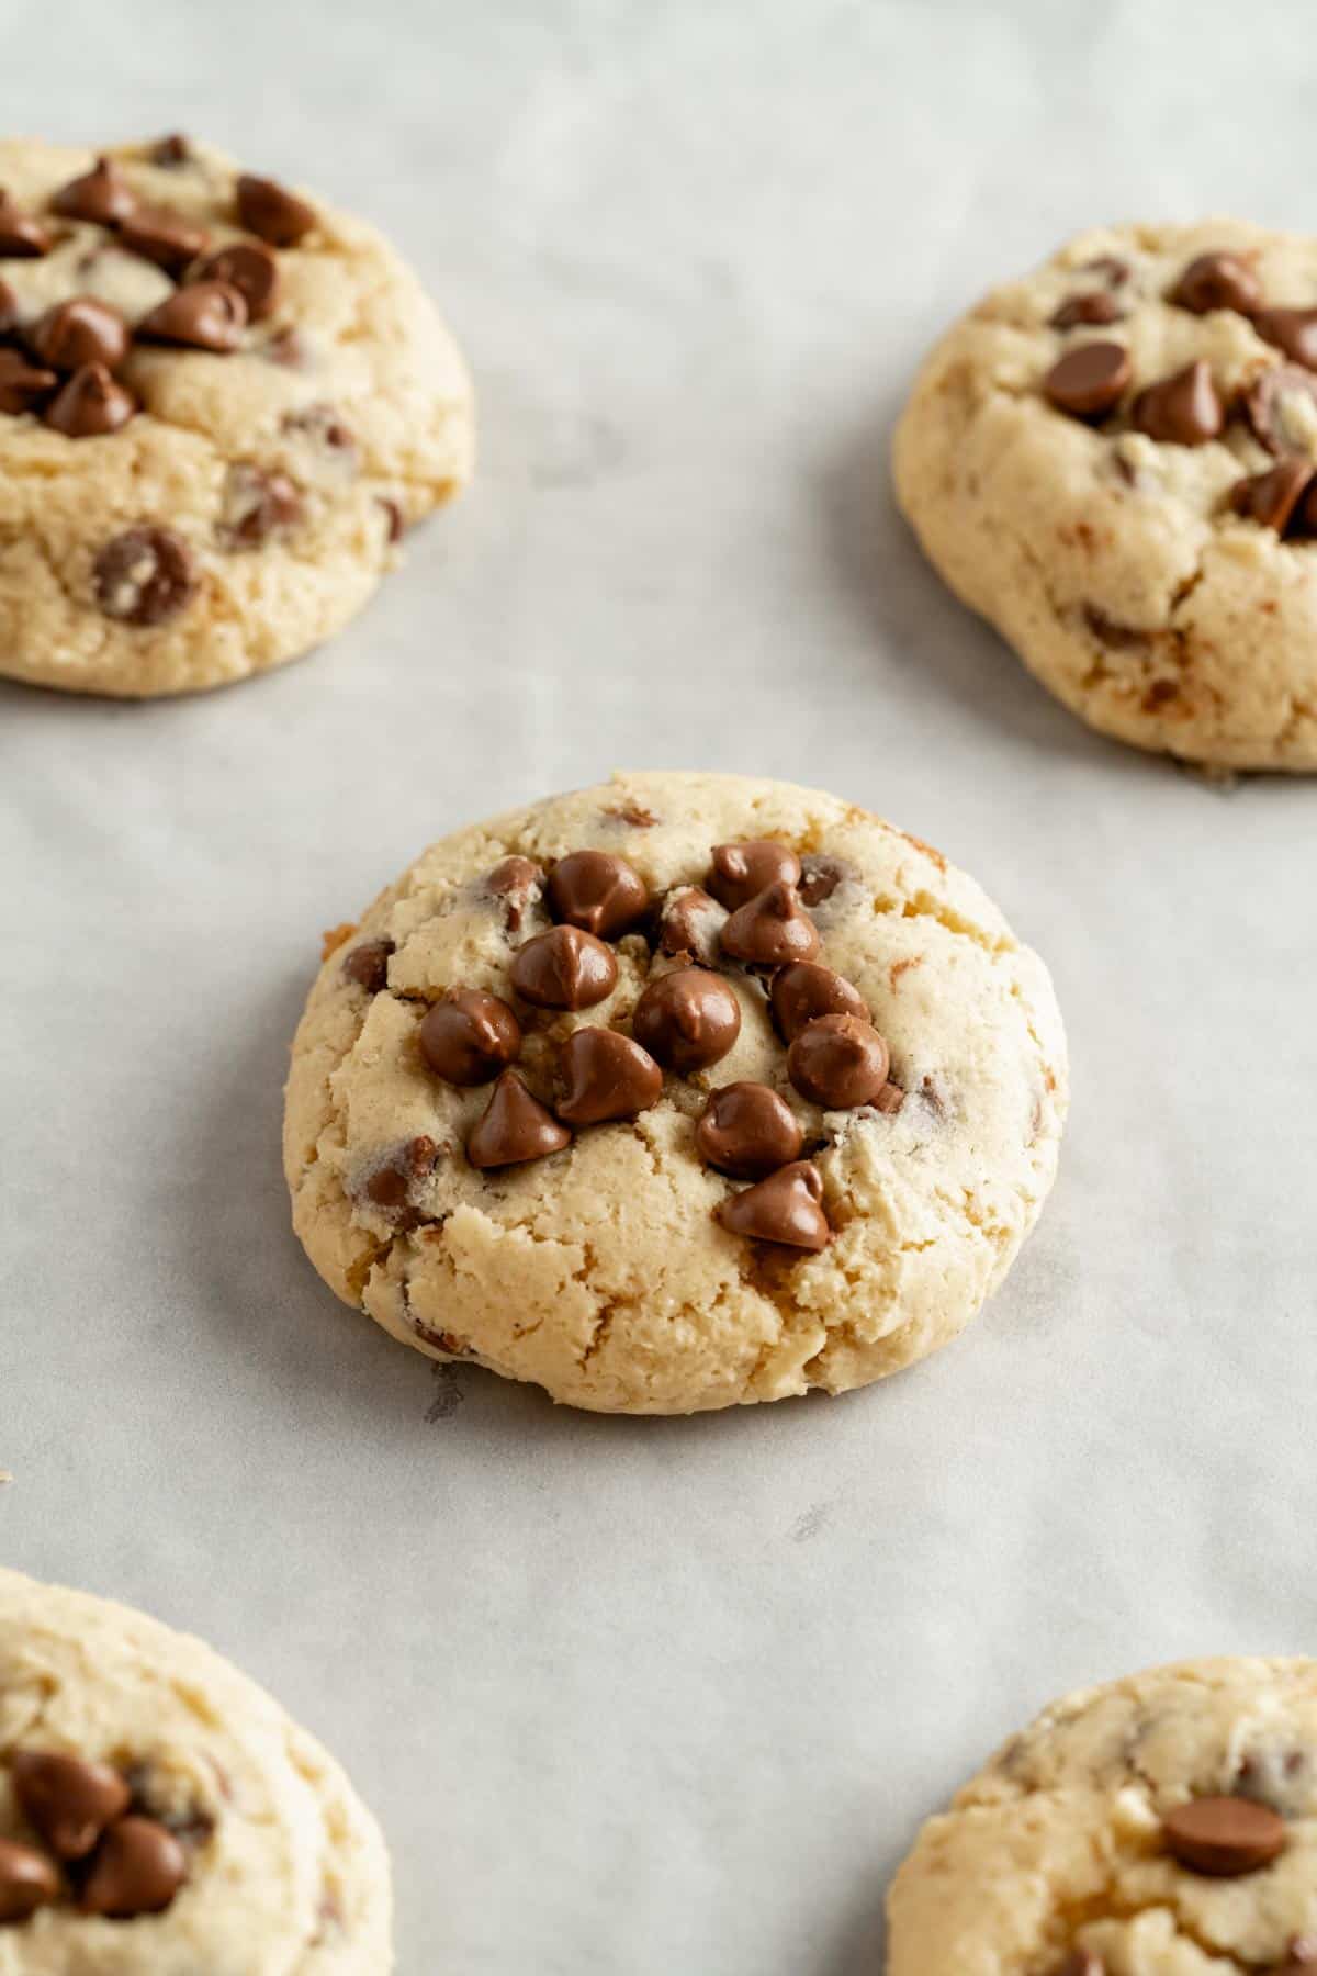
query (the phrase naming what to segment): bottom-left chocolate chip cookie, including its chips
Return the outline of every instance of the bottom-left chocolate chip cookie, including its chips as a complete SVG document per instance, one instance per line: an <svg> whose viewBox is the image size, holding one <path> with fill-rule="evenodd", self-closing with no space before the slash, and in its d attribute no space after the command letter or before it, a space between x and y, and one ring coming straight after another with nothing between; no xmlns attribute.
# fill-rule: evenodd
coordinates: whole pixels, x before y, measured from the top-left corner
<svg viewBox="0 0 1317 1976"><path fill-rule="evenodd" d="M0 1968L385 1976L379 1828L199 1640L0 1569Z"/></svg>

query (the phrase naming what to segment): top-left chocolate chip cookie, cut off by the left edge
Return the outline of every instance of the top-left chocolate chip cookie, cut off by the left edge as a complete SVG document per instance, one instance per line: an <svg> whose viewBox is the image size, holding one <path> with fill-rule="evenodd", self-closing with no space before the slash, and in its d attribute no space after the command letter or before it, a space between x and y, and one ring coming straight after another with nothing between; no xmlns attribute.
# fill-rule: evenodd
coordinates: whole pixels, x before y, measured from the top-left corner
<svg viewBox="0 0 1317 1976"><path fill-rule="evenodd" d="M415 277L186 138L0 142L0 672L178 694L340 630L470 476Z"/></svg>

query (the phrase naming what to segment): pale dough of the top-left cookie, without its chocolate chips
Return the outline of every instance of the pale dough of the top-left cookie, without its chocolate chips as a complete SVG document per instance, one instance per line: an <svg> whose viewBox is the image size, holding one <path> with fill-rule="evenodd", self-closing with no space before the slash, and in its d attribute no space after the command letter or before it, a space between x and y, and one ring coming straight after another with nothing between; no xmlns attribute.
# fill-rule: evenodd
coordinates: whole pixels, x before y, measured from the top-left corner
<svg viewBox="0 0 1317 1976"><path fill-rule="evenodd" d="M188 166L166 170L146 150L111 152L146 204L203 223L213 247L241 237L229 158L194 144ZM43 209L91 162L87 150L0 142L0 186ZM146 409L103 439L0 415L0 674L140 698L265 672L340 630L397 563L385 504L419 522L470 478L470 377L432 302L371 227L308 198L320 223L278 253L278 308L239 352L134 348L120 377ZM61 239L45 259L0 261L24 320L95 294L134 324L170 292L103 227L51 225ZM296 366L271 354L284 328L302 344ZM314 421L284 425L310 407L330 407L355 447L326 445ZM227 535L237 464L286 474L302 498L298 526L257 549ZM97 553L150 524L186 537L197 595L168 622L116 622L97 607Z"/></svg>

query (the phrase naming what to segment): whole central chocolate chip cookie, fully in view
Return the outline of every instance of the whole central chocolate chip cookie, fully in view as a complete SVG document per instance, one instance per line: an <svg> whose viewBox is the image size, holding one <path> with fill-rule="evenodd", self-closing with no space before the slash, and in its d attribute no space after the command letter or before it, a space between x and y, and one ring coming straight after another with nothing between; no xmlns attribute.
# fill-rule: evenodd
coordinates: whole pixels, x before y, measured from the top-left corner
<svg viewBox="0 0 1317 1976"><path fill-rule="evenodd" d="M284 1124L312 1263L577 1407L898 1371L1052 1184L1046 970L835 796L620 775L434 844L326 954Z"/></svg>

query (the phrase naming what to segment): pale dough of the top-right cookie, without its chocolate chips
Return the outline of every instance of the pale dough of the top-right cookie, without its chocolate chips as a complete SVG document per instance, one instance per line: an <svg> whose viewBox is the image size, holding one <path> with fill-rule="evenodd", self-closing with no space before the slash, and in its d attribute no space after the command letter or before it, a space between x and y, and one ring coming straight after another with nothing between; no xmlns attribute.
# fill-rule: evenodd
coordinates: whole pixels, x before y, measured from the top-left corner
<svg viewBox="0 0 1317 1976"><path fill-rule="evenodd" d="M1224 510L1274 458L1242 419L1204 447L1090 429L1041 381L1068 348L1116 340L1135 381L1206 358L1222 395L1281 364L1238 314L1165 290L1201 253L1246 255L1270 304L1317 302L1317 241L1238 219L1110 227L989 294L938 344L894 443L898 502L956 595L1092 727L1185 761L1317 769L1317 543ZM1123 322L1054 330L1084 263L1131 267ZM1317 415L1295 433L1317 458Z"/></svg>

